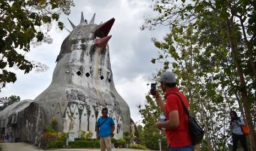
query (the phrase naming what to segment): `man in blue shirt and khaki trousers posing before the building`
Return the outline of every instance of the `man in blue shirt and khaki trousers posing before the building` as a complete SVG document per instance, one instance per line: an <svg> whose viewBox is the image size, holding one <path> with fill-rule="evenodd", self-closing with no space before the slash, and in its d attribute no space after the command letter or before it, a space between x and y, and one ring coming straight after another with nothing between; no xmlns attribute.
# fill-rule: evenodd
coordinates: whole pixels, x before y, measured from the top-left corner
<svg viewBox="0 0 256 151"><path fill-rule="evenodd" d="M102 108L100 117L97 121L97 138L100 139L100 149L101 151L112 151L111 150L111 138L115 130L115 123L111 117L107 116L107 108Z"/></svg>

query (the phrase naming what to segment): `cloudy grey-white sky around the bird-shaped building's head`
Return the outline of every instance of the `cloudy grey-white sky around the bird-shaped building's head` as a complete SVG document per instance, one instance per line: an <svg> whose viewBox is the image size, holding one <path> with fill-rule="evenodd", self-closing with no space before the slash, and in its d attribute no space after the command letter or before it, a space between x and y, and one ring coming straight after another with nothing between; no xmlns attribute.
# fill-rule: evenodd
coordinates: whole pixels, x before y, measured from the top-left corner
<svg viewBox="0 0 256 151"><path fill-rule="evenodd" d="M159 66L153 65L150 60L157 56L157 49L151 42L151 38L162 39L168 32L168 27L158 27L155 31L140 31L144 22L144 16L154 16L149 7L149 0L83 0L75 1L75 7L71 9L69 16L61 16L61 21L71 30L67 18L75 25L80 22L81 11L86 20L91 19L96 13L95 23L105 22L111 18L116 21L109 35L112 38L108 42L110 47L110 60L115 86L119 94L130 107L130 113L134 121L140 121L141 117L137 105L145 104L145 94L150 89L150 79ZM45 63L49 69L43 73L30 72L17 73L17 81L7 84L0 92L0 97L17 95L21 100L32 99L38 96L51 83L52 73L56 66L56 57L61 50L61 44L68 36L66 30L60 31L53 25L50 36L52 44L42 44L32 48L26 54L29 60Z"/></svg>

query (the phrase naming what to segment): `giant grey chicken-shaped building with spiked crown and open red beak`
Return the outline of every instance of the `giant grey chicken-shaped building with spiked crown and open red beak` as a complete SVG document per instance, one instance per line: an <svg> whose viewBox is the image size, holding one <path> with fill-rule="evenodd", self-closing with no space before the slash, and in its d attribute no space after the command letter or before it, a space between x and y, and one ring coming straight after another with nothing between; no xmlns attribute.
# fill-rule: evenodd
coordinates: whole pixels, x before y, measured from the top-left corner
<svg viewBox="0 0 256 151"><path fill-rule="evenodd" d="M130 132L130 110L116 91L110 65L108 33L114 18L103 24L90 22L81 13L80 24L64 39L56 59L52 82L35 100L23 100L8 106L0 113L1 133L8 133L10 141L38 144L45 126L57 122L57 131L91 131L96 137L96 121L101 109L115 121L114 138Z"/></svg>

